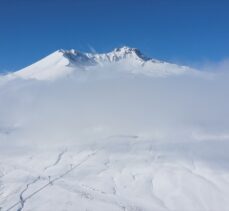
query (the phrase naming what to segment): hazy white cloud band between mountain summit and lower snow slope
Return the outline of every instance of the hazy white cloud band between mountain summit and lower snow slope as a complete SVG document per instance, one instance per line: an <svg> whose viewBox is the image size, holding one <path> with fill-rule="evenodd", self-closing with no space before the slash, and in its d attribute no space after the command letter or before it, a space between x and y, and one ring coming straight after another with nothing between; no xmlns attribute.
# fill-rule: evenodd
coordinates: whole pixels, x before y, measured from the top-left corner
<svg viewBox="0 0 229 211"><path fill-rule="evenodd" d="M218 156L224 162L228 156L220 153L228 149L228 79L217 71L210 78L154 78L101 75L98 69L53 82L2 81L1 148L131 135L164 141L165 150L181 144L185 150L180 154L191 149L200 156L205 147L205 160Z"/></svg>

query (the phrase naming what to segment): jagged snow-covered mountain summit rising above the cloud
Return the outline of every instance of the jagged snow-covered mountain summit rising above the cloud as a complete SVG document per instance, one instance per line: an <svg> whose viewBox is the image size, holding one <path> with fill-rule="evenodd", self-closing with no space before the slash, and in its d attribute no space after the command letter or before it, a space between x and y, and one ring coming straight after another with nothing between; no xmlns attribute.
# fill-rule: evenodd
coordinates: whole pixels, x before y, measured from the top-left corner
<svg viewBox="0 0 229 211"><path fill-rule="evenodd" d="M53 80L79 70L94 70L98 66L150 76L167 76L196 72L192 68L146 57L136 48L115 48L109 53L81 53L77 50L58 50L40 61L10 76L24 79Z"/></svg>

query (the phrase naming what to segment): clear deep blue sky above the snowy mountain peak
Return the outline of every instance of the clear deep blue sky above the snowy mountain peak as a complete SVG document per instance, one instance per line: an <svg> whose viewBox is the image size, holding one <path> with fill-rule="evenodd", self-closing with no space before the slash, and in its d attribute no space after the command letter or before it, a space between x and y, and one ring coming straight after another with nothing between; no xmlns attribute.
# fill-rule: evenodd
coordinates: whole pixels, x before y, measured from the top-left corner
<svg viewBox="0 0 229 211"><path fill-rule="evenodd" d="M0 0L0 71L60 49L137 47L168 61L229 57L228 0Z"/></svg>

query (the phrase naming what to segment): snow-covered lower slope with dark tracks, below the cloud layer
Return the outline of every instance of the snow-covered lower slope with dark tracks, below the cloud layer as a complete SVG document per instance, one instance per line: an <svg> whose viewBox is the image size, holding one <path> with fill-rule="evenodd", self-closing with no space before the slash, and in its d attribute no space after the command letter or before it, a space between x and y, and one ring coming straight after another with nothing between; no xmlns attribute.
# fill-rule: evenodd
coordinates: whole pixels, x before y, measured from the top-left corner
<svg viewBox="0 0 229 211"><path fill-rule="evenodd" d="M29 149L23 154L11 150L10 157L1 154L1 162L7 164L1 164L2 209L229 208L228 172L206 167L194 155L176 160L181 150L190 154L185 145L141 140L137 136L114 136L96 147L94 144ZM173 150L164 149L168 147Z"/></svg>

